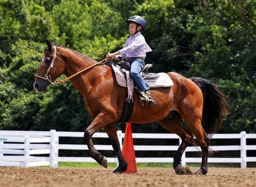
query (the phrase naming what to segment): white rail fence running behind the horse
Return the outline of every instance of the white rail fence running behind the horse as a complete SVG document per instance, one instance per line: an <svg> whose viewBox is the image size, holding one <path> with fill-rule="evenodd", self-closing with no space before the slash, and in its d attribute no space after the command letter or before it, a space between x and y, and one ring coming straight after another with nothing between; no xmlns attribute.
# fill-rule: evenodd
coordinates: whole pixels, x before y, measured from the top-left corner
<svg viewBox="0 0 256 187"><path fill-rule="evenodd" d="M58 162L96 162L91 157L59 157L59 150L88 150L87 145L59 144L59 137L83 137L83 132L57 132L50 131L0 131L0 166L44 166L58 167ZM122 146L124 133L117 131L119 143ZM132 133L135 138L148 139L181 139L176 134L145 134ZM96 132L93 138L108 138L105 132ZM215 151L240 151L240 157L209 157L208 163L240 163L246 168L247 162L256 162L256 157L247 157L247 151L256 150L255 145L247 145L247 139L256 139L256 134L215 134L213 139L240 139L240 145L211 146ZM177 145L134 145L137 151L176 151ZM112 145L95 145L97 150L113 150ZM201 163L202 158L186 157L186 152L198 152L200 147L189 146L182 155L182 165L186 163ZM255 152L256 153L256 152ZM47 154L47 156L38 156ZM10 156L12 155L12 156ZM36 156L33 156L36 155ZM49 155L49 156L48 156ZM116 157L108 157L108 162L116 162ZM173 162L172 157L137 157L136 162Z"/></svg>

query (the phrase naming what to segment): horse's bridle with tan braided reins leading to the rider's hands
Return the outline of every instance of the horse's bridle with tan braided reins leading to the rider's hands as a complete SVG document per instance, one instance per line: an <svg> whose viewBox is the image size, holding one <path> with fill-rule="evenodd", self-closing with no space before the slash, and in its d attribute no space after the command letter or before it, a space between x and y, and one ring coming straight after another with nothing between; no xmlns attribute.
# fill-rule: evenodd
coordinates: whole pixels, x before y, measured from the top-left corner
<svg viewBox="0 0 256 187"><path fill-rule="evenodd" d="M52 82L52 79L50 78L50 75L48 75L48 73L50 72L50 69L53 68L54 60L55 60L56 57L57 57L57 56L56 56L56 51L57 51L56 46L53 46L53 48L54 48L54 55L53 55L53 57L52 57L52 61L50 62L50 65L49 65L49 67L48 67L48 69L47 69L47 71L46 71L46 74L44 75L45 77L41 77L41 76L36 75L36 77L39 77L39 78L41 78L41 79L48 80L51 84L57 84L57 83L60 84L60 83L63 83L63 82L65 82L65 81L67 81L67 80L73 78L74 76L80 74L81 72L86 71L87 69L90 69L91 67L94 67L94 66L96 66L96 65L98 65L98 64L105 64L105 63L107 62L107 61L106 61L106 58L105 58L104 60L101 60L100 62L97 62L97 63L95 63L95 64L92 64L92 65L90 65L89 67L87 67L87 68L85 68L85 69L82 69L81 71L79 71L79 72L73 74L72 76L69 76L68 78L65 78L65 79L62 79L62 80L56 80L56 81L53 81L53 82Z"/></svg>

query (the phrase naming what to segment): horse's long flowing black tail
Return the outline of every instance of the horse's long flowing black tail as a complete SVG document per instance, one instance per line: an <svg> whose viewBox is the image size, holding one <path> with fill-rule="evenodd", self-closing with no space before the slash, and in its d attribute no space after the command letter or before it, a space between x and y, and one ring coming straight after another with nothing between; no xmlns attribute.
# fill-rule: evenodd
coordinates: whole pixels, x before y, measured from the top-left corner
<svg viewBox="0 0 256 187"><path fill-rule="evenodd" d="M229 114L225 95L210 80L192 77L190 78L201 90L204 99L202 127L206 134L215 134L220 129L224 115Z"/></svg>

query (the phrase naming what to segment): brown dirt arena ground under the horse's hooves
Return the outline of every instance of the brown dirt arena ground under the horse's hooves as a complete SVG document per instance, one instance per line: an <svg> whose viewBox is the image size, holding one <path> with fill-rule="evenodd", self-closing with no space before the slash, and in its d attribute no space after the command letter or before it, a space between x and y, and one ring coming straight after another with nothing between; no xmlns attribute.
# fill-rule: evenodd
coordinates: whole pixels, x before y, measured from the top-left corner
<svg viewBox="0 0 256 187"><path fill-rule="evenodd" d="M176 175L172 168L138 168L114 175L115 168L0 167L1 187L255 187L256 168L208 168L207 175ZM198 168L190 168L195 172Z"/></svg>

